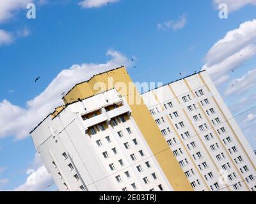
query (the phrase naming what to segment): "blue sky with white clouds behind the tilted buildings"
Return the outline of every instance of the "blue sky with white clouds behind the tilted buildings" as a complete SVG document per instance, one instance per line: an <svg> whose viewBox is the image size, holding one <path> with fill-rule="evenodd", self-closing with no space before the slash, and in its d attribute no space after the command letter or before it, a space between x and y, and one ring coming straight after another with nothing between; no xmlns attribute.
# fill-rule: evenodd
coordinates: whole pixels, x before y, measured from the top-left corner
<svg viewBox="0 0 256 204"><path fill-rule="evenodd" d="M127 65L134 82L163 83L180 78L180 72L186 76L205 67L234 115L256 105L254 0L245 5L234 0L238 6L221 1L230 8L227 19L218 16L218 0L120 0L108 5L101 0L97 8L71 0L8 4L11 1L0 8L0 190L22 184L26 190L26 171L40 168L33 142L26 136L37 121L27 119L40 105L35 97L44 98L41 94L49 84L56 78L62 82L61 71L74 64L84 68L84 78L99 71L99 64ZM26 4L31 2L36 4L36 19L26 18ZM221 68L221 63L227 66ZM73 78L76 68L70 71ZM40 80L35 84L36 77ZM69 87L63 86L58 91ZM54 97L60 103L60 94ZM50 108L40 109L42 115ZM237 117L237 122L256 149L255 109ZM36 190L50 183L48 178Z"/></svg>

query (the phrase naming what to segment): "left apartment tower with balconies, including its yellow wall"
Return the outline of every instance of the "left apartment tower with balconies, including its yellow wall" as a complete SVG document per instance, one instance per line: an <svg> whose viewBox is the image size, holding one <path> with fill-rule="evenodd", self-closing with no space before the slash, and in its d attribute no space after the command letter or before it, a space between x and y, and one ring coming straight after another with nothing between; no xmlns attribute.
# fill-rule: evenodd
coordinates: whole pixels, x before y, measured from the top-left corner
<svg viewBox="0 0 256 204"><path fill-rule="evenodd" d="M193 191L138 98L125 68L113 69L75 85L31 131L60 191Z"/></svg>

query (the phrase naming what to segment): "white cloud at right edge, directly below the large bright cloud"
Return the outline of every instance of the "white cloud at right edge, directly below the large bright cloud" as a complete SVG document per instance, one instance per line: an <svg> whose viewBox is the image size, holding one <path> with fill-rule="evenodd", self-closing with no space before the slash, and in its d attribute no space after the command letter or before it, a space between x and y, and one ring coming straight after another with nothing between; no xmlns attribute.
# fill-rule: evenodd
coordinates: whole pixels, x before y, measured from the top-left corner
<svg viewBox="0 0 256 204"><path fill-rule="evenodd" d="M256 69L252 69L251 71L248 71L248 73L246 73L246 75L244 75L242 78L237 78L236 80L233 80L227 87L225 94L226 96L232 94L244 94L252 88L255 89L255 86Z"/></svg>

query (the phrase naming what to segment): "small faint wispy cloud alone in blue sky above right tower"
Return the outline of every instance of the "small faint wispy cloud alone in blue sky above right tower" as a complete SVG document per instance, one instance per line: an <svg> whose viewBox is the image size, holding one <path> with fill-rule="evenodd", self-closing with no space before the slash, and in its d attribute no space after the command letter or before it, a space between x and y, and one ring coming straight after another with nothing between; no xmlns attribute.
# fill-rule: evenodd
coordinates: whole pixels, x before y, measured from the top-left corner
<svg viewBox="0 0 256 204"><path fill-rule="evenodd" d="M172 29L173 31L182 29L187 22L187 17L186 15L182 15L179 20L168 20L166 22L163 22L162 24L157 24L157 29L158 30L163 30L166 31L168 29Z"/></svg>

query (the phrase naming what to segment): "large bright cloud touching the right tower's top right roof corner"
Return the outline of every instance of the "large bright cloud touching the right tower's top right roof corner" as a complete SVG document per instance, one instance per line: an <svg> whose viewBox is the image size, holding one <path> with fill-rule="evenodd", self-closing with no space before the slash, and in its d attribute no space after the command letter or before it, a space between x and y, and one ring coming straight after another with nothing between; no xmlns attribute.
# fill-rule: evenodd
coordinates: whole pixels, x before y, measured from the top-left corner
<svg viewBox="0 0 256 204"><path fill-rule="evenodd" d="M214 82L225 82L230 71L239 68L256 55L256 19L244 22L229 31L209 50L203 69L207 69ZM223 77L224 76L224 77ZM220 80L222 77L222 80Z"/></svg>

